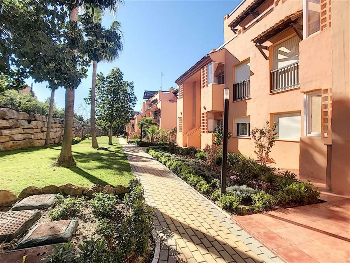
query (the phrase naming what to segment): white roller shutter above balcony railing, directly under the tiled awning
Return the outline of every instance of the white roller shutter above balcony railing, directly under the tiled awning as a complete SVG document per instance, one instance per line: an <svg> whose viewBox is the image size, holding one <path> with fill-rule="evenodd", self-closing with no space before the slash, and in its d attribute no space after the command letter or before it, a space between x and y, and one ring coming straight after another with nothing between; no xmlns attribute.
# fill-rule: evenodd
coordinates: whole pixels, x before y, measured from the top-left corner
<svg viewBox="0 0 350 263"><path fill-rule="evenodd" d="M284 68L299 61L299 42L300 38L293 36L273 47L273 69Z"/></svg>

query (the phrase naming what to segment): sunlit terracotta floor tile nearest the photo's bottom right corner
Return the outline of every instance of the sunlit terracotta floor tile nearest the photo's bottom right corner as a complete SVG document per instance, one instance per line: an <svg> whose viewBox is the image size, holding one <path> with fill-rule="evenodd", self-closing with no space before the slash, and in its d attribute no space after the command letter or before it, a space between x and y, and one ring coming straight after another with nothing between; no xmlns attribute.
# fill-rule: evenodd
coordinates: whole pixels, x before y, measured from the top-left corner
<svg viewBox="0 0 350 263"><path fill-rule="evenodd" d="M324 247L315 241L298 244L296 247L321 263L337 262L344 259L344 257L329 250L328 247Z"/></svg>

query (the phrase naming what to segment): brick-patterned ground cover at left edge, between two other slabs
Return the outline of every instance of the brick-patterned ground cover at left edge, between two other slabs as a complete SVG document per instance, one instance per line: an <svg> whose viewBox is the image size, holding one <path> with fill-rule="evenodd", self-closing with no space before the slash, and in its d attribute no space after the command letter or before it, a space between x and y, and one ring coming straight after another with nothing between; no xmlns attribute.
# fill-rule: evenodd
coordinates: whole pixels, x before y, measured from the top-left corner
<svg viewBox="0 0 350 263"><path fill-rule="evenodd" d="M0 242L10 242L41 217L39 210L0 212Z"/></svg>

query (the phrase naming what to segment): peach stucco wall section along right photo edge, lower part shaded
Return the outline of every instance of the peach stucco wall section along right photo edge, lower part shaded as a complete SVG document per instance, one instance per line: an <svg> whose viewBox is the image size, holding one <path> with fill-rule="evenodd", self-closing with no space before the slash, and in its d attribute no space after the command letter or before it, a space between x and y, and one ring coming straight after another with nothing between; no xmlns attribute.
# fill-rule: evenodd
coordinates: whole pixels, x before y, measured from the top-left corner
<svg viewBox="0 0 350 263"><path fill-rule="evenodd" d="M332 1L332 191L350 195L350 1Z"/></svg>

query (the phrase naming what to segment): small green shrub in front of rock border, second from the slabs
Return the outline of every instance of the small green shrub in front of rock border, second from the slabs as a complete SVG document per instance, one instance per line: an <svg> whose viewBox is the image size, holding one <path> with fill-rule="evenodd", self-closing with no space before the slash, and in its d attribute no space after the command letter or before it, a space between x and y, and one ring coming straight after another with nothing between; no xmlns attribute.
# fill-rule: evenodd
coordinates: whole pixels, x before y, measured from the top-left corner
<svg viewBox="0 0 350 263"><path fill-rule="evenodd" d="M117 211L118 196L113 194L107 194L105 191L94 193L93 198L90 200L90 207L92 213L96 217L113 217Z"/></svg>

